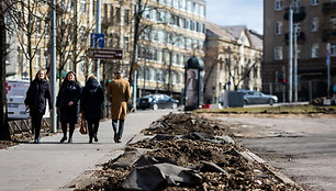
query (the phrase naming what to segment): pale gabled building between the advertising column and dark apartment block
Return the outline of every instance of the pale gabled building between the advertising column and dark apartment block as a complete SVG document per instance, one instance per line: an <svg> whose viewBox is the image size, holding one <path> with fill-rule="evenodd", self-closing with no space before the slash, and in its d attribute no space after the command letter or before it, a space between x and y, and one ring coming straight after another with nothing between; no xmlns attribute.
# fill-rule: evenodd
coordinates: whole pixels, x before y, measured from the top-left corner
<svg viewBox="0 0 336 191"><path fill-rule="evenodd" d="M262 36L246 26L206 23L204 102L219 103L225 90L261 89Z"/></svg>

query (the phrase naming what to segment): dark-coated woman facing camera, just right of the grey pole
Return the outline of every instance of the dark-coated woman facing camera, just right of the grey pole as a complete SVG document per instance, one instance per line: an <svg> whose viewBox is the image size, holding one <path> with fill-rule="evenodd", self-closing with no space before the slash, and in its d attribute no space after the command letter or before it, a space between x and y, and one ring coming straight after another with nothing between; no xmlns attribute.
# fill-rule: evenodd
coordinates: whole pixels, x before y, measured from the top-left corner
<svg viewBox="0 0 336 191"><path fill-rule="evenodd" d="M77 123L79 115L78 102L80 93L81 88L77 82L76 74L69 71L63 80L56 101L57 111L60 112L61 131L64 134L60 143L64 143L67 139L67 124L69 124L68 143L72 143L75 124Z"/></svg>

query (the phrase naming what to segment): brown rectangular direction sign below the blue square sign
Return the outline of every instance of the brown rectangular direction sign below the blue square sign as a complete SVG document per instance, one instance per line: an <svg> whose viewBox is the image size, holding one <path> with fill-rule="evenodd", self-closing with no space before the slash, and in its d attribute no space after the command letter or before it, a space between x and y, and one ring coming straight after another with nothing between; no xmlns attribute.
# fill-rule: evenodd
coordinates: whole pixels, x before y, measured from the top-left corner
<svg viewBox="0 0 336 191"><path fill-rule="evenodd" d="M115 48L90 48L89 56L96 59L123 59L123 50Z"/></svg>

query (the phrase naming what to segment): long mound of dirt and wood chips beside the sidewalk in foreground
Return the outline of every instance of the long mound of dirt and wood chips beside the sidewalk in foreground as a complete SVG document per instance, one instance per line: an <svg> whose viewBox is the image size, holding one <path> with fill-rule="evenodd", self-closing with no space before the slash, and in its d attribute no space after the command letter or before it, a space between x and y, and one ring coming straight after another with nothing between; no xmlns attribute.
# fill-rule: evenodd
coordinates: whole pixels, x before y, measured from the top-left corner
<svg viewBox="0 0 336 191"><path fill-rule="evenodd" d="M99 181L78 190L300 190L197 114L167 115L143 133L155 136L128 145L93 173Z"/></svg>

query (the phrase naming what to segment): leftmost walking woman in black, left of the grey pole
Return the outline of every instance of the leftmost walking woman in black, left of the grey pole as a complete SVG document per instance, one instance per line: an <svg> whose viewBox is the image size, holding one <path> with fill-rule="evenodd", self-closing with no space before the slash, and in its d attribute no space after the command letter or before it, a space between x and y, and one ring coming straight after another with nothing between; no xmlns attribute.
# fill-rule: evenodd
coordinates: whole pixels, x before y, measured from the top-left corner
<svg viewBox="0 0 336 191"><path fill-rule="evenodd" d="M45 75L45 71L38 70L35 79L32 81L30 88L26 91L24 104L26 110L30 110L32 116L32 128L34 128L35 138L34 143L40 143L41 123L42 117L45 114L46 99L48 99L49 108L52 104L51 86ZM51 112L52 112L51 108Z"/></svg>

